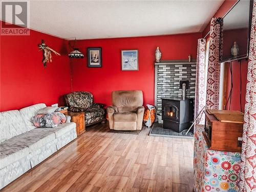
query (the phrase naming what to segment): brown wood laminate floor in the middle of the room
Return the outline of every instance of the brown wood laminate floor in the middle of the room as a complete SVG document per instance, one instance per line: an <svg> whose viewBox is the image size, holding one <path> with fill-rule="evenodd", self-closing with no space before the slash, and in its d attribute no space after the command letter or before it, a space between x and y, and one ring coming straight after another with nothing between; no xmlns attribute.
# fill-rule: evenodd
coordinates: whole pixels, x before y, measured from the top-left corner
<svg viewBox="0 0 256 192"><path fill-rule="evenodd" d="M193 191L193 139L91 126L4 191Z"/></svg>

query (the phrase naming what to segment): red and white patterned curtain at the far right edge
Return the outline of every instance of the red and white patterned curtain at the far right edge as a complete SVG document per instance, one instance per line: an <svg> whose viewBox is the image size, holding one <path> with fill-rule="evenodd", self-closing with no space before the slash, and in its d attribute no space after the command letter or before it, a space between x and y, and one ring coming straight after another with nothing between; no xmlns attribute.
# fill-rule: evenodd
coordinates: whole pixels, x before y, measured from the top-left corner
<svg viewBox="0 0 256 192"><path fill-rule="evenodd" d="M256 191L256 0L253 1L245 97L240 191Z"/></svg>

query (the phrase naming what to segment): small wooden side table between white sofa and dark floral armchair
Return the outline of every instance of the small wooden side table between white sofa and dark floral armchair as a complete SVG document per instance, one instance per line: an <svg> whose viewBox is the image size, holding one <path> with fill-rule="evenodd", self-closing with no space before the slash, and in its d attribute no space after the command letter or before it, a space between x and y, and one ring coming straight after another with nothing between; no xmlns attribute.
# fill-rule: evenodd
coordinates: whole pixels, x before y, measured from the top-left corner
<svg viewBox="0 0 256 192"><path fill-rule="evenodd" d="M76 123L76 134L81 135L86 131L86 124L84 122L85 113L84 112L68 112L67 115L71 116L71 122Z"/></svg>

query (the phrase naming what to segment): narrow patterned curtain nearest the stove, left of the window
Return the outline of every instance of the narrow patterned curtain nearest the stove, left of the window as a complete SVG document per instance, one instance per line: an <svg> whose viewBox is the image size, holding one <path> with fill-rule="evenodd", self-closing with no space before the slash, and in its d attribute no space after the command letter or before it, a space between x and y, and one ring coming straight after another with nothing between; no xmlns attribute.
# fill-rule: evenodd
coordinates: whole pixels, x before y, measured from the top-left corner
<svg viewBox="0 0 256 192"><path fill-rule="evenodd" d="M198 39L197 44L197 70L196 70L196 94L195 94L195 115L194 121L205 106L205 39ZM204 113L196 124L204 125Z"/></svg>

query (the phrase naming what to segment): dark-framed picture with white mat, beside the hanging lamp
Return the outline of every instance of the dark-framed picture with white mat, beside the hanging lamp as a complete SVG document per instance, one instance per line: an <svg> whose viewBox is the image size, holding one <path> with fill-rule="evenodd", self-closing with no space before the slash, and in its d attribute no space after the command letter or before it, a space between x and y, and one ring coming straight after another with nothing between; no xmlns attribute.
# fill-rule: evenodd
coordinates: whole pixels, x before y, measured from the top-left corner
<svg viewBox="0 0 256 192"><path fill-rule="evenodd" d="M87 48L88 67L102 67L101 47Z"/></svg>

